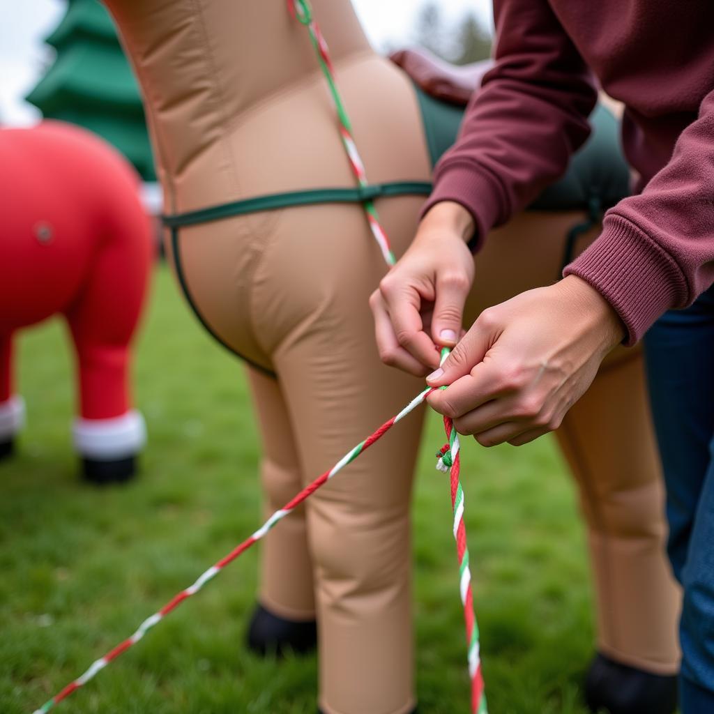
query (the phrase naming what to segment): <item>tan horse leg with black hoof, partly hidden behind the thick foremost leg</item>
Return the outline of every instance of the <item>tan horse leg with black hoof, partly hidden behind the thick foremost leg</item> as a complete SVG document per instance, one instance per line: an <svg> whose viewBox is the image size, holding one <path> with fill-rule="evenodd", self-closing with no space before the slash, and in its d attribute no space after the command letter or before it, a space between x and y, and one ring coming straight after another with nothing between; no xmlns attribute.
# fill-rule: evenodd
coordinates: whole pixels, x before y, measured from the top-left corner
<svg viewBox="0 0 714 714"><path fill-rule="evenodd" d="M256 369L247 371L263 441L261 481L268 518L301 490L302 475L280 384ZM303 652L316 645L312 572L305 507L298 506L261 543L258 608L248 630L253 650Z"/></svg>

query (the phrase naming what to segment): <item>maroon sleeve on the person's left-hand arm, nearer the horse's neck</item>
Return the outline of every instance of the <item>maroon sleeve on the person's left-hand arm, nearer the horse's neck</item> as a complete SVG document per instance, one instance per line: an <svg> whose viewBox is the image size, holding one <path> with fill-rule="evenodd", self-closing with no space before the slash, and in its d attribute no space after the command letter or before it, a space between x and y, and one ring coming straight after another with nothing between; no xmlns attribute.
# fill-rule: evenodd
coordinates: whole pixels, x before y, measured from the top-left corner
<svg viewBox="0 0 714 714"><path fill-rule="evenodd" d="M438 162L422 215L461 203L478 241L560 178L590 134L597 94L585 62L545 0L495 0L496 64L456 144Z"/></svg>

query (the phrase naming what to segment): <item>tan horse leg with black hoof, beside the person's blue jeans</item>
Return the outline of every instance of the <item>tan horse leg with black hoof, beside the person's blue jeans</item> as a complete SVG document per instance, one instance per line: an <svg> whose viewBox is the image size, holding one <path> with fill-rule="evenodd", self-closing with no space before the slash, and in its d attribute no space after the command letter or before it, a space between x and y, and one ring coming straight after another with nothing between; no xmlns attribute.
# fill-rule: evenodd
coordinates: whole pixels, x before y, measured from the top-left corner
<svg viewBox="0 0 714 714"><path fill-rule="evenodd" d="M665 555L663 483L639 353L605 363L558 441L580 485L595 575L598 658L588 703L670 714L680 595Z"/></svg>

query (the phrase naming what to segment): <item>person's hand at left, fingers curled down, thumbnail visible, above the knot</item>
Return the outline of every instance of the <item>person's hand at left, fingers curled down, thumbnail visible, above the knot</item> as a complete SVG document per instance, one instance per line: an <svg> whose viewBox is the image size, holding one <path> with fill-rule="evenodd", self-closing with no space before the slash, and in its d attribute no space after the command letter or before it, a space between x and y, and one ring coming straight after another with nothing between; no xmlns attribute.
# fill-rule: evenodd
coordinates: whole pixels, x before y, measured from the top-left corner
<svg viewBox="0 0 714 714"><path fill-rule="evenodd" d="M463 333L461 316L473 282L466 240L473 218L443 201L419 224L416 238L369 300L381 360L416 376L438 366L438 346Z"/></svg>

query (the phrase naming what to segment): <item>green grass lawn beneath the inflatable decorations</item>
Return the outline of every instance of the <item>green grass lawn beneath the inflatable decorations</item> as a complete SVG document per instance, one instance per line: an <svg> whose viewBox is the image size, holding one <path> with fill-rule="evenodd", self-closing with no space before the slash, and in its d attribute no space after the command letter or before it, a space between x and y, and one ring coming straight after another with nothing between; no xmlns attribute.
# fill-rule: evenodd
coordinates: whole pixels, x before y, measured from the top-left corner
<svg viewBox="0 0 714 714"><path fill-rule="evenodd" d="M139 338L136 396L149 446L131 486L98 490L78 481L64 328L52 321L24 333L18 357L29 424L19 456L0 466L1 714L44 703L243 540L260 516L258 439L243 373L198 326L165 268ZM431 418L414 503L418 698L420 713L466 714L451 503L434 468L441 443ZM543 438L486 450L465 440L462 470L491 712L584 714L588 563L555 445ZM338 478L350 478L349 468ZM313 714L314 657L261 660L243 647L256 555L248 551L56 711Z"/></svg>

